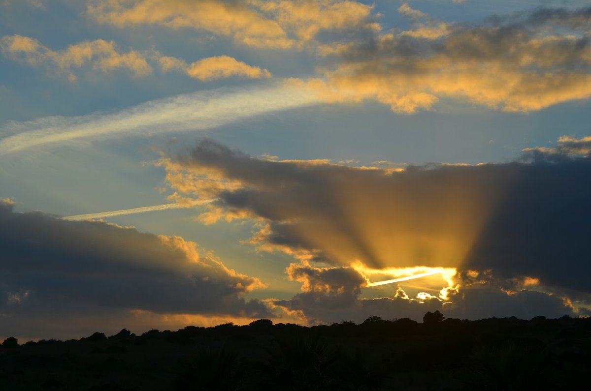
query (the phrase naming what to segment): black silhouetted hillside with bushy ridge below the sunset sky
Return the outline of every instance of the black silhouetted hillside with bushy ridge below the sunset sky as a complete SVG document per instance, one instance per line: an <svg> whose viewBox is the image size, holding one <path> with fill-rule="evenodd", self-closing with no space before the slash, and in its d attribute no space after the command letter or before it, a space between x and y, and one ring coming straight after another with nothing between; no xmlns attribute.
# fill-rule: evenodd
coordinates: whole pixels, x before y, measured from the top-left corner
<svg viewBox="0 0 591 391"><path fill-rule="evenodd" d="M429 315L431 313L428 313ZM186 327L0 347L0 390L573 390L591 318ZM431 314L436 315L436 314ZM437 314L439 315L439 314Z"/></svg>

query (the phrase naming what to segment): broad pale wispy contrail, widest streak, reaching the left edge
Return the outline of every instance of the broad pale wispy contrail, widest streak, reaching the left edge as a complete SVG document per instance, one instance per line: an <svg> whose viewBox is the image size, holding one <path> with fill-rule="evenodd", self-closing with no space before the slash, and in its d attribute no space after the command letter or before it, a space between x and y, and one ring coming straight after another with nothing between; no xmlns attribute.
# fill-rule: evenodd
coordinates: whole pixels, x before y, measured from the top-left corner
<svg viewBox="0 0 591 391"><path fill-rule="evenodd" d="M0 154L80 138L209 129L319 101L319 97L297 86L265 84L251 89L222 88L152 100L111 114L8 122L0 128Z"/></svg>

